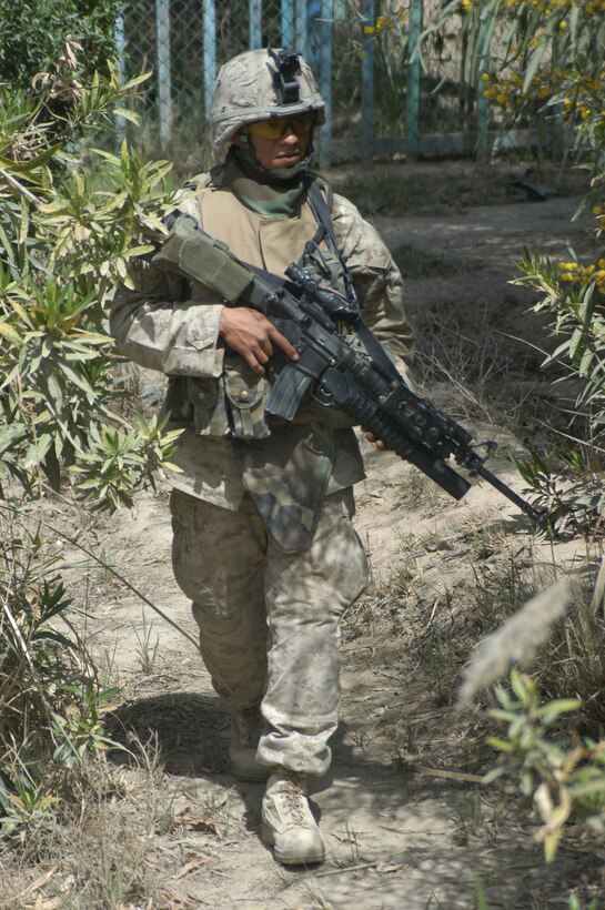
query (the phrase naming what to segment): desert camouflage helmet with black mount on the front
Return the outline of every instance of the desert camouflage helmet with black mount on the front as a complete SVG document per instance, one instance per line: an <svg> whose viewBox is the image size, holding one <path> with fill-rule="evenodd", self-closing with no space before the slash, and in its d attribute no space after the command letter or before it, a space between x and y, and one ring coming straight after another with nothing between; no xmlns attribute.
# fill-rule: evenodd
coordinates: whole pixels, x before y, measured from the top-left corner
<svg viewBox="0 0 605 910"><path fill-rule="evenodd" d="M246 123L305 111L315 112L317 124L325 123L325 105L300 54L272 48L244 51L219 70L210 114L212 142L223 145Z"/></svg>

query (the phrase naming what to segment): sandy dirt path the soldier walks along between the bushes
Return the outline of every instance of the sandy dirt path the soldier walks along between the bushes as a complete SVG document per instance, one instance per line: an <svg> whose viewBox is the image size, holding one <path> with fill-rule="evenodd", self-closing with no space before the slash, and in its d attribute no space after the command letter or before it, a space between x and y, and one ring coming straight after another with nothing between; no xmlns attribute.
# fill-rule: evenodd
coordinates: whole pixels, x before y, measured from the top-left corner
<svg viewBox="0 0 605 910"><path fill-rule="evenodd" d="M535 332L525 292L507 284L510 261L530 241L554 255L569 243L585 244L584 225L571 222L576 203L557 198L438 218L377 218L392 249L405 245L412 262L424 262L422 274L407 280L411 316L434 337L423 351L436 357L440 333L443 338L457 332L461 351L468 342L466 356L483 357L476 370L485 370L485 357L493 355L495 382L497 370L525 364L526 348L513 343L502 366L502 346L493 341ZM473 335L473 325L481 333ZM448 364L454 378L463 367ZM527 374L522 378L528 381ZM441 404L451 400L446 386L436 384ZM456 416L464 418L461 401L454 396ZM482 407L478 402L474 410L474 429L491 435ZM523 434L521 419L520 427ZM500 438L520 445L511 435ZM490 907L554 907L567 906L571 889L581 884L577 855L561 851L545 868L531 831L511 819L505 823L504 808L473 782L490 757L478 739L470 748L476 720L472 714L455 716L452 692L438 685L440 661L452 659L448 624L464 624L477 569L488 580L511 560L534 560L547 580L553 554L535 548L514 507L492 488L481 485L454 503L391 454L369 452L366 461L356 524L371 555L373 587L343 623L343 722L331 776L313 787L327 843L321 869L283 869L262 846L262 788L234 782L228 772L226 715L193 645L108 572L77 573L88 603L89 640L103 656L108 677L128 694L118 720L132 748L133 735L142 741L152 735L160 756L159 767L124 765L120 771L122 833L115 836L113 862L128 855L128 830L148 882L141 889L151 899L121 906L471 908L478 874ZM495 461L493 469L518 489L507 462ZM491 528L483 549L477 527ZM171 578L165 489L139 497L132 516L85 522L81 533L195 635L189 605ZM576 552L582 555L579 542L562 546L555 562L573 559ZM419 661L422 647L434 661L432 676ZM118 754L111 759L120 760ZM44 888L48 893L50 886Z"/></svg>

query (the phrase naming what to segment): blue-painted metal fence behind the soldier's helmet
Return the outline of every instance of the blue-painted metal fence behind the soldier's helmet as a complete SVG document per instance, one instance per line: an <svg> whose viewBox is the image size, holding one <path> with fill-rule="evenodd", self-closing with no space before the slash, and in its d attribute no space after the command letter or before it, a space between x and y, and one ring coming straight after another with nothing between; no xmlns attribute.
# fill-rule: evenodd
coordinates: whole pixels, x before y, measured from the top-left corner
<svg viewBox="0 0 605 910"><path fill-rule="evenodd" d="M411 49L441 0L131 0L117 27L124 75L152 71L144 104L162 145L203 133L218 68L249 48L294 47L327 109L322 164L375 155L485 153L487 104L461 77L454 31L435 34L424 69ZM394 21L367 33L380 17ZM478 78L478 74L477 74ZM494 125L494 124L492 124ZM510 139L514 141L514 136Z"/></svg>

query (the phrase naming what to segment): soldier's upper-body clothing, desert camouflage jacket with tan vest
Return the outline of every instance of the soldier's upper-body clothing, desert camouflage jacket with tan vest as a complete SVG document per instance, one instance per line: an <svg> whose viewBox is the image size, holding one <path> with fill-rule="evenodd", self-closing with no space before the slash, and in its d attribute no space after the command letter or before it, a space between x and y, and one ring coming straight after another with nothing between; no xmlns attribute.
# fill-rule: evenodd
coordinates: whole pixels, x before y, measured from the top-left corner
<svg viewBox="0 0 605 910"><path fill-rule="evenodd" d="M236 256L274 274L283 274L290 262L298 261L316 232L306 201L294 218L266 218L236 198L220 169L196 178L192 185L194 194L180 209L228 243ZM363 317L400 368L405 368L412 334L403 310L401 274L376 231L337 194L332 221ZM170 377L165 407L173 424L184 427L172 458L180 468L171 477L177 488L234 510L245 489L254 487L262 496L282 483L284 471L294 475L306 471L311 472L304 484L307 505L316 510L325 492L363 478L350 428L329 428L321 422L265 424L268 380L225 350L219 335L223 304L208 289L149 262L135 283L134 291L118 290L111 332L121 354ZM234 434L240 438L234 439ZM311 463L310 452L316 456Z"/></svg>

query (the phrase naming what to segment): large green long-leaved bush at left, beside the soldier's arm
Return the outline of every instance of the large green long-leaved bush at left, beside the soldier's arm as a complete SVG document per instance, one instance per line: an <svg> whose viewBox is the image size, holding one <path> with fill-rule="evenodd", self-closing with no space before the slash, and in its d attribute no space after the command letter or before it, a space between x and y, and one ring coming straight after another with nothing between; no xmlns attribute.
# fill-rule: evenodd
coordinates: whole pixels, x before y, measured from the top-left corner
<svg viewBox="0 0 605 910"><path fill-rule="evenodd" d="M64 67L50 92L58 82L71 97L61 142L53 124L39 122L44 99L0 94L0 483L8 473L32 489L41 471L58 488L61 469L80 469L90 496L91 452L104 451L98 493L113 508L130 503L133 473L152 482L174 437L161 438L143 418L132 435L119 417L104 303L128 281L129 262L153 249L174 193L170 165L144 162L127 143L119 155L92 152L93 176L64 151L82 130L107 123L140 80L122 90L112 71L83 89Z"/></svg>

